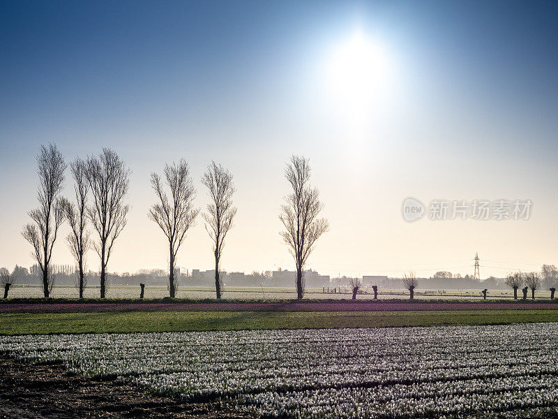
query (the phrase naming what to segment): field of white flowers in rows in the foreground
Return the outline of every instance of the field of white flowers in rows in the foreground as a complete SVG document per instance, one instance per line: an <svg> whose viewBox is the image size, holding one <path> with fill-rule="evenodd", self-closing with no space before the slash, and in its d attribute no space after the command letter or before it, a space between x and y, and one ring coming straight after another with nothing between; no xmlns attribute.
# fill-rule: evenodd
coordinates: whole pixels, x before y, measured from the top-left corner
<svg viewBox="0 0 558 419"><path fill-rule="evenodd" d="M558 323L0 337L0 351L262 417L529 417L558 406Z"/></svg>

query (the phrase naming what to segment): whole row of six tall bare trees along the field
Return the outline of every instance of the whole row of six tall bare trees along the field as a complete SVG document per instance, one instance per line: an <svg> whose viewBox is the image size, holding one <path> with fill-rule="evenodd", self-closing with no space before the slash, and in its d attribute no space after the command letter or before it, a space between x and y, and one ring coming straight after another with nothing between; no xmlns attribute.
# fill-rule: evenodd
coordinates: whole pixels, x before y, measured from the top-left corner
<svg viewBox="0 0 558 419"><path fill-rule="evenodd" d="M74 181L73 202L61 196L67 165L54 144L40 147L38 165L38 208L31 210L33 222L22 231L23 237L32 245L32 256L38 263L43 277L43 294L49 297L54 285L50 269L54 242L64 221L68 221L70 234L66 237L68 247L75 259L80 298L87 284L86 253L95 249L100 258L100 297L106 295L107 265L112 256L114 243L126 226L130 206L126 196L130 186L130 169L112 149L103 148L99 156L79 157L70 163ZM319 218L323 204L319 192L310 186L308 159L292 156L285 177L292 193L285 197L280 220L285 230L281 237L289 247L296 265L296 291L304 294L304 267L315 242L326 232L329 224ZM210 203L202 214L205 228L213 242L215 259L216 296L223 295L223 279L220 278L220 260L225 238L233 226L236 207L232 197L235 191L233 176L229 170L214 161L202 176ZM149 219L157 223L169 242L169 295L176 296L176 258L181 244L199 209L195 208L196 196L190 168L184 159L179 163L165 164L164 179L151 173L151 186L157 203L149 208ZM95 238L91 236L91 224ZM8 286L9 288L9 286Z"/></svg>

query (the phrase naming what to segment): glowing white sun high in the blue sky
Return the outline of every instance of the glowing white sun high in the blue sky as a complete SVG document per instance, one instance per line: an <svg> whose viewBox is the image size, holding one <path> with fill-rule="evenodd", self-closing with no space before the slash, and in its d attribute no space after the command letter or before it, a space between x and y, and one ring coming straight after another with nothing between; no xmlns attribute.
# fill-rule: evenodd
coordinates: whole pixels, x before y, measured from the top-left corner
<svg viewBox="0 0 558 419"><path fill-rule="evenodd" d="M328 73L335 96L353 111L363 111L388 81L389 63L380 45L355 31L333 50Z"/></svg>

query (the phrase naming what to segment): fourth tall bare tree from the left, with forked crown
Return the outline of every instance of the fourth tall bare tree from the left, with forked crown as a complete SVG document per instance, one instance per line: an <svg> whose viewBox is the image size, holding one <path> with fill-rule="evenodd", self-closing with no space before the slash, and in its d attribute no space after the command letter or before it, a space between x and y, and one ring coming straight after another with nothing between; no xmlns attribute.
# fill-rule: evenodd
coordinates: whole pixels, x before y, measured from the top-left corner
<svg viewBox="0 0 558 419"><path fill-rule="evenodd" d="M169 240L169 295L174 298L176 253L186 238L186 232L193 226L199 210L194 208L196 191L190 177L190 168L184 159L181 159L178 165L165 164L165 179L170 189L170 200L163 190L160 176L155 172L151 173L151 186L160 203L149 209L148 216L158 224Z"/></svg>

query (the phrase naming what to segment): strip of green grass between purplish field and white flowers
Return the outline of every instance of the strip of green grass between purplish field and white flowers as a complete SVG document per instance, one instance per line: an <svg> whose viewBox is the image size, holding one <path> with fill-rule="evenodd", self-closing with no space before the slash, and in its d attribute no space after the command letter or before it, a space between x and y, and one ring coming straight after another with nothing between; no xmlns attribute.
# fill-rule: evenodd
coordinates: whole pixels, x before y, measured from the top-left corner
<svg viewBox="0 0 558 419"><path fill-rule="evenodd" d="M301 328L495 325L557 322L558 310L472 311L132 311L1 314L0 335L186 332Z"/></svg>

